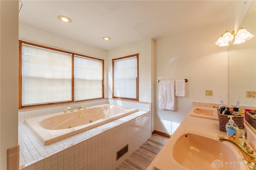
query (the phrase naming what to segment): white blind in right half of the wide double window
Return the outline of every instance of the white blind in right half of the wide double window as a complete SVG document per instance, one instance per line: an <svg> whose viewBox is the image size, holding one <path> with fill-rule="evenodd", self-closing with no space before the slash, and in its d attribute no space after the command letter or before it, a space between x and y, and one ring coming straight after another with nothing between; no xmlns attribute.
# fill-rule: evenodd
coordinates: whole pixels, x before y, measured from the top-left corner
<svg viewBox="0 0 256 170"><path fill-rule="evenodd" d="M74 100L102 98L102 61L75 55Z"/></svg>

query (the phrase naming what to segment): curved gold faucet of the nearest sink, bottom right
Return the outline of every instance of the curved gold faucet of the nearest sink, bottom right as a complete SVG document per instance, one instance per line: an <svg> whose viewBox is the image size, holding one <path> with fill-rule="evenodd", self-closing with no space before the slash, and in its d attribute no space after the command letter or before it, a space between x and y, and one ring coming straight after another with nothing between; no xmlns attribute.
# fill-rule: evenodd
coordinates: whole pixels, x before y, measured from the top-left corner
<svg viewBox="0 0 256 170"><path fill-rule="evenodd" d="M218 139L221 142L230 142L232 143L234 146L236 146L242 153L242 155L244 156L244 160L243 162L245 164L248 164L248 166L254 170L256 170L256 154L254 154L254 149L250 148L247 143L246 143L246 139L245 136L242 136L243 141L242 144L236 142L235 140L228 138L228 137L218 137Z"/></svg>

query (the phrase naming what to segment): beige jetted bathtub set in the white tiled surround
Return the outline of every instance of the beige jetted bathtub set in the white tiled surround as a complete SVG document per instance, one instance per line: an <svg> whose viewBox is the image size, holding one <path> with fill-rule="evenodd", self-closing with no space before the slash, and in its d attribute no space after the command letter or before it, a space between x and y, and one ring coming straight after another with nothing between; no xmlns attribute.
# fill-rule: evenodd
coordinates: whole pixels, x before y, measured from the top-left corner
<svg viewBox="0 0 256 170"><path fill-rule="evenodd" d="M104 104L87 107L80 111L74 109L73 112L68 111L67 113L61 112L32 117L25 119L24 123L38 137L44 146L46 146L136 111L138 111L138 109Z"/></svg>

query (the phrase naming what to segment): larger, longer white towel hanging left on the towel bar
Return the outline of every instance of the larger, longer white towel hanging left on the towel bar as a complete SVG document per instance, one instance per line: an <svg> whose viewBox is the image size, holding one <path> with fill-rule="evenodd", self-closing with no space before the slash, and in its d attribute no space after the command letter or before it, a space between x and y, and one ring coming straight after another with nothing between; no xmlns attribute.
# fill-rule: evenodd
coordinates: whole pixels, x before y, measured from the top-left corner
<svg viewBox="0 0 256 170"><path fill-rule="evenodd" d="M159 81L159 108L174 110L174 80Z"/></svg>

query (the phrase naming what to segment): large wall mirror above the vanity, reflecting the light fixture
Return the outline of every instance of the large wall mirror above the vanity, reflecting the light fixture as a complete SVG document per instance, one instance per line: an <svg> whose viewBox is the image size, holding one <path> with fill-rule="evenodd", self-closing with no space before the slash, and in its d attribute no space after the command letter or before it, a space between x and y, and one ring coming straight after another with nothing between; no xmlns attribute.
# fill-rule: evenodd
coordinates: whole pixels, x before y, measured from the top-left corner
<svg viewBox="0 0 256 170"><path fill-rule="evenodd" d="M241 23L254 37L228 47L228 104L256 107L256 99L246 98L246 91L256 91L256 1Z"/></svg>

